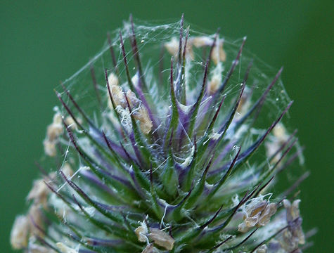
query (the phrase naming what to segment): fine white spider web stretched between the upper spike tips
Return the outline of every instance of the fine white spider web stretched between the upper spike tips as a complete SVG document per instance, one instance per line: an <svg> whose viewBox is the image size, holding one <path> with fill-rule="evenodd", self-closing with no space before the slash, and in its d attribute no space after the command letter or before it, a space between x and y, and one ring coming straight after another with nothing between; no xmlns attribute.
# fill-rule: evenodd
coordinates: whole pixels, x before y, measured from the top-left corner
<svg viewBox="0 0 334 253"><path fill-rule="evenodd" d="M184 27L189 27L189 38L208 37L214 39L214 34L210 32L193 30L193 26L188 26L188 24L184 25ZM120 79L120 86L122 86L124 91L129 89L120 44L120 33L124 40L129 73L131 77L134 77L137 70L134 64L134 54L131 51L130 30L131 23L124 22L124 26L121 29L110 32L110 41L106 40L101 50L98 51L86 65L80 68L72 75L72 77L63 82L86 115L89 115L96 126L101 126L103 129L107 129L108 135L114 140L117 137L113 136L113 129L108 126L108 122L105 122L105 115L110 112L110 108L108 108L108 91L105 84L105 70L107 70L108 74L117 72L117 76ZM134 30L136 32L139 55L141 56L143 74L146 78L146 84L148 85L148 92L153 98L153 103L158 114L156 116L163 119L166 117L169 109L169 72L171 58L171 55L167 53L164 44L171 41L172 38L179 38L180 22L169 22L164 25L159 25L155 22L135 20ZM233 65L233 60L236 59L240 45L243 43L243 39L233 40L224 37L221 34L219 34L219 39L224 40L223 48L226 53L226 60L221 63L221 77L224 79L228 75L231 65ZM110 45L113 47L115 65L110 53ZM208 50L209 49L207 49L207 51ZM202 51L194 50L193 54L193 60L189 63L191 67L189 67L189 71L186 72L187 91L189 91L187 100L188 105L194 103L197 98L197 96L192 96L192 94L197 94L200 91L206 61L205 53ZM248 92L252 94L252 103L262 96L266 91L267 86L271 84L278 72L278 70L270 67L254 54L250 53L247 48L244 48L240 59L238 60L236 70L229 79L226 89L224 89L226 100L224 101L224 108L221 110L221 115L223 116L220 117L221 119L219 119L217 124L221 123L222 119L229 113L229 109L235 102L240 89L242 89L241 84L251 61L253 64L246 87L248 88ZM214 70L214 67L216 66L212 65L209 78L212 77L212 70ZM94 86L92 80L92 68L94 69L93 79L96 79L96 86ZM58 86L57 90L62 91L63 89ZM70 101L66 96L63 96L63 98L65 102L70 104ZM247 146L249 143L252 143L252 141L255 141L258 136L263 134L265 129L277 119L278 115L283 112L290 101L281 78L278 78L276 84L274 84L266 96L264 105L255 122L251 125L245 124L245 126L248 127L248 131L245 131L243 145ZM65 110L62 110L65 115ZM216 108L212 107L210 110L216 110ZM238 117L238 114L236 116ZM289 117L290 115L288 113L283 117L283 124L288 133L292 133L294 129L290 128L290 124L288 123ZM294 149L295 152L298 153L299 163L303 164L304 158L302 157L300 144L297 143L294 146ZM235 152L236 150L231 151L231 157L233 157ZM231 157L229 155L226 156L228 159ZM268 162L264 147L262 147L262 151L257 152L254 160ZM258 165L258 163L255 162L254 165L250 166L250 170L248 171L249 174L252 174L252 167L256 165ZM286 179L288 179L288 181L295 181L298 175L300 175L300 171L289 169Z"/></svg>

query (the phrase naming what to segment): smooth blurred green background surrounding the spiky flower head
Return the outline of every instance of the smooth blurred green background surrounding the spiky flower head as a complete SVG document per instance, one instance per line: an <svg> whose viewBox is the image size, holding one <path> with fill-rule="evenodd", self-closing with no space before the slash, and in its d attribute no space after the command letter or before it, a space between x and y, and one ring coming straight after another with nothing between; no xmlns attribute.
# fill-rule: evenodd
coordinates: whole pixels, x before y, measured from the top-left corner
<svg viewBox="0 0 334 253"><path fill-rule="evenodd" d="M334 1L0 1L0 245L11 252L15 215L38 171L34 160L58 105L53 88L101 48L108 30L141 20L186 20L238 39L278 69L295 100L291 123L306 146L303 226L319 228L307 252L333 250Z"/></svg>

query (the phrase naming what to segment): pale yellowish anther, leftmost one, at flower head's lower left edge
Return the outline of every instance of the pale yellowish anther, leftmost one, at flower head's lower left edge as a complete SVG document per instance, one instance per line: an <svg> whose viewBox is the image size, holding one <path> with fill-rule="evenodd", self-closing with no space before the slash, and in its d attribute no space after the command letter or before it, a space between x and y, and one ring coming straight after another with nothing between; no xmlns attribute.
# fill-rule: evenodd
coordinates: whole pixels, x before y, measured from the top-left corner
<svg viewBox="0 0 334 253"><path fill-rule="evenodd" d="M30 221L27 216L17 216L11 230L11 245L13 249L27 247Z"/></svg>

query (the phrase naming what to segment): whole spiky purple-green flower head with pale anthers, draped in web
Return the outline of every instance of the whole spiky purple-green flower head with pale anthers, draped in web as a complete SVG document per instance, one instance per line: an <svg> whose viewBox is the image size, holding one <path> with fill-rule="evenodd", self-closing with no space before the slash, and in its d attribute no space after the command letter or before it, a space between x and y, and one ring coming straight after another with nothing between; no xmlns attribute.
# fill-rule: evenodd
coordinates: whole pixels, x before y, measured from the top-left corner
<svg viewBox="0 0 334 253"><path fill-rule="evenodd" d="M262 73L245 38L236 48L219 32L184 29L183 17L157 27L130 18L118 32L56 92L62 108L13 248L301 252L301 180L273 188L302 158L282 122L282 70Z"/></svg>

